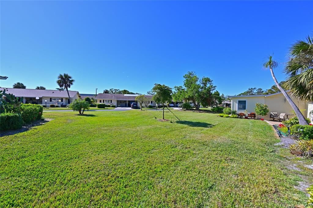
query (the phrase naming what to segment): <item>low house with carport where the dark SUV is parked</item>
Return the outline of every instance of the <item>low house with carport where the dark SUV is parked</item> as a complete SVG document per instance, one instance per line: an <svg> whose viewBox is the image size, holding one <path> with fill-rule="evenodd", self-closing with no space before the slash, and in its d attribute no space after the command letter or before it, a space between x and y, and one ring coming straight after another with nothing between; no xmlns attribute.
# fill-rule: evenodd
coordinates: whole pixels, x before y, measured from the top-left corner
<svg viewBox="0 0 313 208"><path fill-rule="evenodd" d="M138 95L134 94L110 94L110 93L99 93L96 96L97 103L102 103L105 105L115 105L116 107L130 107L131 103L136 102L136 97ZM152 100L152 95L145 95L149 101L149 105L155 106L156 103ZM145 104L143 103L143 106Z"/></svg>

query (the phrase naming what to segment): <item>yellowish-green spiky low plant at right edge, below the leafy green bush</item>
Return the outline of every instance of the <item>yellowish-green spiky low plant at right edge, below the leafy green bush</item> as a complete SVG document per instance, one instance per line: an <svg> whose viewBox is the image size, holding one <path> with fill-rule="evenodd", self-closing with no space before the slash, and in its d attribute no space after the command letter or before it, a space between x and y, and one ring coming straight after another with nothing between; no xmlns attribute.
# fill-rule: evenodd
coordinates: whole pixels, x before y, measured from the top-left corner
<svg viewBox="0 0 313 208"><path fill-rule="evenodd" d="M290 152L298 156L313 156L313 140L300 140L289 146Z"/></svg>

